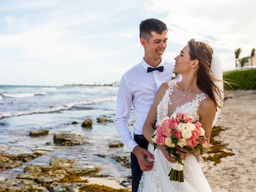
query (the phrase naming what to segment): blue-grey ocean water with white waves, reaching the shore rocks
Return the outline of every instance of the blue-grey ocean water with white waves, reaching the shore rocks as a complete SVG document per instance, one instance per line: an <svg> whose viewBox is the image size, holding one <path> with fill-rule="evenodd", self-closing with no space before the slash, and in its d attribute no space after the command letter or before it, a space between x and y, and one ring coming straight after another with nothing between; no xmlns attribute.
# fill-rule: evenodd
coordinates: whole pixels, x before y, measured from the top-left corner
<svg viewBox="0 0 256 192"><path fill-rule="evenodd" d="M110 158L129 156L123 148L109 148L120 142L114 124L97 123L96 118L114 119L118 87L112 86L6 86L0 85L0 147L10 154L31 153L37 146L53 143L53 135L61 132L80 134L90 144L62 146L24 163L20 167L0 171L0 180L16 177L27 164L49 164L51 157L75 158L79 162L102 167L101 173L113 179L131 174L130 169ZM93 119L92 129L81 127L86 118ZM131 113L131 120L135 116ZM71 124L72 122L78 124ZM32 130L48 129L49 135L30 137ZM132 126L130 126L132 130ZM106 158L95 154L105 154Z"/></svg>

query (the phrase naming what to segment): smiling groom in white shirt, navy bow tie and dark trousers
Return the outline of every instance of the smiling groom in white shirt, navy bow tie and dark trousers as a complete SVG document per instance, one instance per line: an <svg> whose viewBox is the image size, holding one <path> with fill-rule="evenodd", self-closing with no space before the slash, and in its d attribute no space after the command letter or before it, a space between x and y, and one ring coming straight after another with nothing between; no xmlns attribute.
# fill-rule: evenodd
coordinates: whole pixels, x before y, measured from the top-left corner
<svg viewBox="0 0 256 192"><path fill-rule="evenodd" d="M142 126L162 83L170 81L174 64L162 60L167 45L167 27L157 19L140 23L140 44L144 48L142 61L128 70L121 78L114 125L122 142L131 151L132 192L137 192L143 171L151 170L154 159L148 152L148 141L142 134ZM134 138L128 128L130 110L133 107L136 121ZM175 159L174 159L175 160Z"/></svg>

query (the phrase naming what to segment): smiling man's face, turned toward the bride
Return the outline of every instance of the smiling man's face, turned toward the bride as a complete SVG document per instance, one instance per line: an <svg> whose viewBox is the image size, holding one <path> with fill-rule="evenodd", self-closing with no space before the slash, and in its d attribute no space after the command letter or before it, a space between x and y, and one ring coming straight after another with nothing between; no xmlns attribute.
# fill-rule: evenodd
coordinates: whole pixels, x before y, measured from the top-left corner
<svg viewBox="0 0 256 192"><path fill-rule="evenodd" d="M152 37L145 41L145 60L161 60L167 45L167 31L158 34L151 32Z"/></svg>

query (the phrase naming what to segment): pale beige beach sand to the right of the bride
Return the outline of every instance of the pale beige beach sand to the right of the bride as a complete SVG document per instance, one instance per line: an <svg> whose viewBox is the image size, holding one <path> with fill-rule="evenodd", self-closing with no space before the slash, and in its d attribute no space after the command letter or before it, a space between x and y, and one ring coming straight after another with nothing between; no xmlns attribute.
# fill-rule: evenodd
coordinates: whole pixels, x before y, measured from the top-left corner
<svg viewBox="0 0 256 192"><path fill-rule="evenodd" d="M204 174L213 192L256 191L256 90L227 92L229 97L216 126L225 127L216 140L228 143L234 156L213 166L206 162Z"/></svg>

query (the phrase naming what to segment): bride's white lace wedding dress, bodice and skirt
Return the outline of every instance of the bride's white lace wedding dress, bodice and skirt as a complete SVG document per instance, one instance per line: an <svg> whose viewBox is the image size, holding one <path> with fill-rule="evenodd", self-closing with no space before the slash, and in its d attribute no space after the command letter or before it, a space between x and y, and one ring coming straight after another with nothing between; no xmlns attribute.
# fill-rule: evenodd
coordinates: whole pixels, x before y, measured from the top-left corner
<svg viewBox="0 0 256 192"><path fill-rule="evenodd" d="M185 95L185 97L184 97ZM168 84L162 100L157 106L157 122L161 122L166 116L178 112L186 113L199 120L198 107L207 97L205 93L188 93L178 90L175 82ZM154 154L154 166L152 170L143 172L138 192L211 192L211 188L202 172L200 161L189 155L184 161L184 182L170 181L168 176L172 165L166 160L162 152L149 144L148 151ZM148 159L148 161L151 161Z"/></svg>

